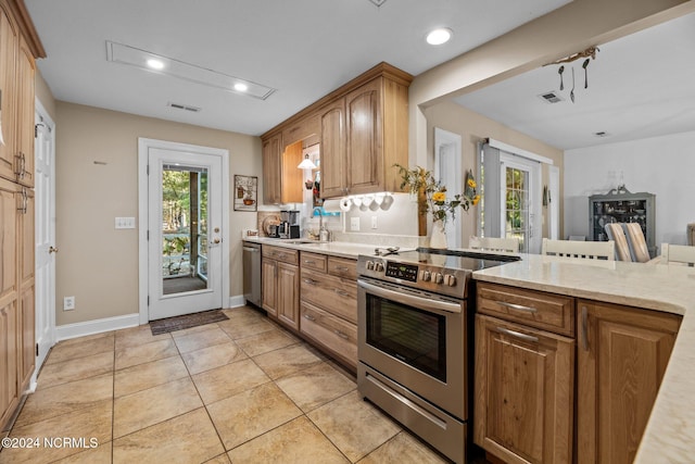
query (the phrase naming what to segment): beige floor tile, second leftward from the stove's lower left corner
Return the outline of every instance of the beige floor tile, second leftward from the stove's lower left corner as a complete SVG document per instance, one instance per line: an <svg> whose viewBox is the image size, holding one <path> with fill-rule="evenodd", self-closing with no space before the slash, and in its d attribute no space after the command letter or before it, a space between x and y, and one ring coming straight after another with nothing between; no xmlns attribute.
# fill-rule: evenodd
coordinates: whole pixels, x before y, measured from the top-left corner
<svg viewBox="0 0 695 464"><path fill-rule="evenodd" d="M193 381L205 404L270 381L251 360L242 360L193 376Z"/></svg>

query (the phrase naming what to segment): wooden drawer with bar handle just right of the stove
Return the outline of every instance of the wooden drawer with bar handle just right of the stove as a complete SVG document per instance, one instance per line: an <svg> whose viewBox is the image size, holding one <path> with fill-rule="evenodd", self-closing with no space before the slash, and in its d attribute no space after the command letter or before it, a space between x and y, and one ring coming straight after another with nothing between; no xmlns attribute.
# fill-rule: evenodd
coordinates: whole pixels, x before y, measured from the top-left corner
<svg viewBox="0 0 695 464"><path fill-rule="evenodd" d="M571 297L478 283L478 312L574 336L574 299Z"/></svg>

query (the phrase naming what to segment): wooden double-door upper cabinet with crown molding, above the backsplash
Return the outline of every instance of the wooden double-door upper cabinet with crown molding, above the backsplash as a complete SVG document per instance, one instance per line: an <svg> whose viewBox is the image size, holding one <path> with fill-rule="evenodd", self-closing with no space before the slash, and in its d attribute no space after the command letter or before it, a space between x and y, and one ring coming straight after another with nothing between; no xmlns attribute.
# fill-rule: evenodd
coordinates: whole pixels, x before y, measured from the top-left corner
<svg viewBox="0 0 695 464"><path fill-rule="evenodd" d="M262 136L285 146L320 131L320 196L402 191L393 165L408 164L413 76L380 63ZM264 179L265 180L265 179ZM268 202L266 200L266 202Z"/></svg>

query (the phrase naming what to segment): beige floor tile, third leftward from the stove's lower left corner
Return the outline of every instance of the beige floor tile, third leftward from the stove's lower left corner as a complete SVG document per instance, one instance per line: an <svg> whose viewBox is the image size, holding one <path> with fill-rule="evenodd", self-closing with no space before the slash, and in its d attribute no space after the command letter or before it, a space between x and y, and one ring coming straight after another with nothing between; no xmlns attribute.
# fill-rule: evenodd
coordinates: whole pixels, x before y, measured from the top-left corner
<svg viewBox="0 0 695 464"><path fill-rule="evenodd" d="M138 364L116 371L113 383L114 397L124 397L184 377L188 377L188 369L180 356Z"/></svg>

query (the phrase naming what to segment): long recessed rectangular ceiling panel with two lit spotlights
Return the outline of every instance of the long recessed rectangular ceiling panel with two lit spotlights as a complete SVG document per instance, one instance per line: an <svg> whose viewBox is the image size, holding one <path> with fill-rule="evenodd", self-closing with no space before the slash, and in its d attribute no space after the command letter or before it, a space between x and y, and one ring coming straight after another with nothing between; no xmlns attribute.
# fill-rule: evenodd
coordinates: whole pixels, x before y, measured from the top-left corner
<svg viewBox="0 0 695 464"><path fill-rule="evenodd" d="M253 97L258 100L267 99L276 90L251 80L195 66L194 64L163 57L147 50L112 42L111 40L106 40L106 60L114 63L136 66L151 73L177 77L190 83L215 87L228 92Z"/></svg>

